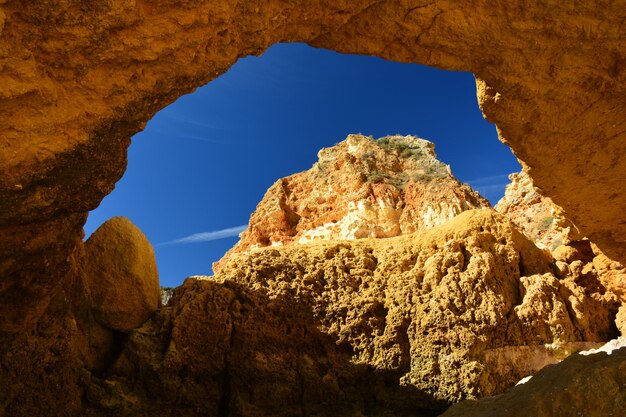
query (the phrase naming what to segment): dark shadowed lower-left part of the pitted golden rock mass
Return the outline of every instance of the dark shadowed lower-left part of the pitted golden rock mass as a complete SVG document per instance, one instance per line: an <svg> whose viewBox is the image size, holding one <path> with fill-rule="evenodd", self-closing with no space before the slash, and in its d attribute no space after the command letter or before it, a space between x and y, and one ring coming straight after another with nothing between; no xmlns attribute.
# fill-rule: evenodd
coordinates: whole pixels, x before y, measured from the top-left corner
<svg viewBox="0 0 626 417"><path fill-rule="evenodd" d="M408 351L404 352L408 355ZM130 334L93 415L435 416L447 407L400 377L353 361L318 331L310 306L231 281L188 279Z"/></svg>

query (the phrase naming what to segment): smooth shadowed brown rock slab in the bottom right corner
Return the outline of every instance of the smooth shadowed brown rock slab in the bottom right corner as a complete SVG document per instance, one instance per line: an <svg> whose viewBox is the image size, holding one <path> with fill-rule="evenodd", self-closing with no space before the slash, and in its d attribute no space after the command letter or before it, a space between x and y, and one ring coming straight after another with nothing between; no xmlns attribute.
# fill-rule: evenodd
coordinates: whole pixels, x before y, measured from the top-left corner
<svg viewBox="0 0 626 417"><path fill-rule="evenodd" d="M572 355L504 395L454 405L441 417L626 415L626 349Z"/></svg>

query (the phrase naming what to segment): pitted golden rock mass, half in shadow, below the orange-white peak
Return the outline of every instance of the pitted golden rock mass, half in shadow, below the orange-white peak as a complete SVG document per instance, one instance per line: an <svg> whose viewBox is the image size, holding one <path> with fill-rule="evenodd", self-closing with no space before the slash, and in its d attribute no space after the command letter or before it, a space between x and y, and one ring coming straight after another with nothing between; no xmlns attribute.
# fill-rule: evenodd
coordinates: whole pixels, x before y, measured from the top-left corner
<svg viewBox="0 0 626 417"><path fill-rule="evenodd" d="M88 398L127 415L441 411L616 335L613 299L549 271L486 209L408 236L236 254L131 332Z"/></svg>

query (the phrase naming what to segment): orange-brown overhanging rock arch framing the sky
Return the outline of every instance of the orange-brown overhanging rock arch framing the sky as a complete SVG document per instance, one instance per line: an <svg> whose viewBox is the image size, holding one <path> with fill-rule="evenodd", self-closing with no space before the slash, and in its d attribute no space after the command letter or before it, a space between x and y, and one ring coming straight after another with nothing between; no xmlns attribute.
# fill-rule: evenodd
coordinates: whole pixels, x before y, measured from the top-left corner
<svg viewBox="0 0 626 417"><path fill-rule="evenodd" d="M277 42L477 77L500 139L583 235L626 260L620 2L0 4L0 330L66 285L86 213L156 111ZM556 22L556 23L555 23Z"/></svg>

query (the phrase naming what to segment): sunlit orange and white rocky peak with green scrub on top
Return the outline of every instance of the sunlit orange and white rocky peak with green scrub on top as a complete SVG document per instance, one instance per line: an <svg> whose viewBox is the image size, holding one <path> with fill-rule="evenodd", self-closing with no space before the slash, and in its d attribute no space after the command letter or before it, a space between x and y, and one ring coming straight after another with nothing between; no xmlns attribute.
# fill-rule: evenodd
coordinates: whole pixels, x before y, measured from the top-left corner
<svg viewBox="0 0 626 417"><path fill-rule="evenodd" d="M414 136L363 135L322 149L311 169L270 187L240 241L213 270L234 253L259 247L400 236L490 207L434 149Z"/></svg>

